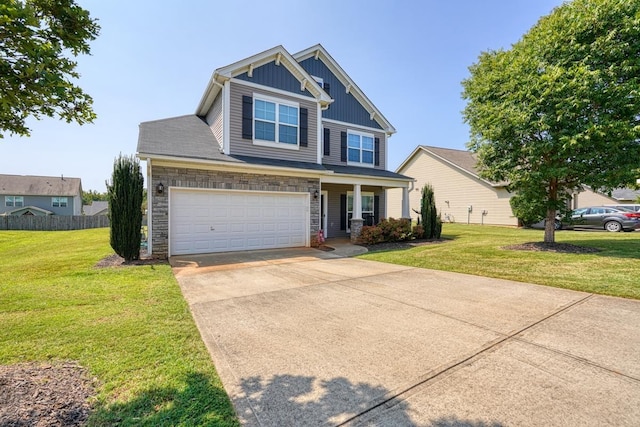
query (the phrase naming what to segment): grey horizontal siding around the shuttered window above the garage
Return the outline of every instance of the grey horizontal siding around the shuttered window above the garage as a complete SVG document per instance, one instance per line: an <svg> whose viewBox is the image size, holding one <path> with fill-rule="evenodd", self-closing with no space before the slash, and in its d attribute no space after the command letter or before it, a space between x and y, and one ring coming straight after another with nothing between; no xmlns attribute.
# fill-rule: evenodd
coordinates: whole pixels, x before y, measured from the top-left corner
<svg viewBox="0 0 640 427"><path fill-rule="evenodd" d="M308 145L299 147L298 150L286 148L264 147L254 145L252 140L242 138L242 96L254 94L265 95L285 101L297 102L300 108L308 111ZM268 90L257 89L244 86L235 82L231 83L230 94L230 154L263 157L267 159L290 160L297 162L317 163L318 160L318 107L315 100L305 101L301 98L290 97L280 93L273 93Z"/></svg>

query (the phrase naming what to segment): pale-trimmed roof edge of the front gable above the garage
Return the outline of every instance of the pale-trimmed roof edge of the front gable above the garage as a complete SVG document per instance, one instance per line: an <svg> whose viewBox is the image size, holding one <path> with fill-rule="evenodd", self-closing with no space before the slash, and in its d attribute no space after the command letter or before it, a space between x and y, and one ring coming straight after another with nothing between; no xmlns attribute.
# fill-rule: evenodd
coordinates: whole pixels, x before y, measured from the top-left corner
<svg viewBox="0 0 640 427"><path fill-rule="evenodd" d="M218 68L213 72L209 84L202 95L202 99L196 109L196 114L204 116L207 114L209 108L216 99L224 82L236 77L240 74L249 72L251 73L254 68L258 68L269 62L275 61L276 64L283 65L289 72L300 82L300 88L302 90L308 90L313 97L322 106L327 106L333 99L316 84L315 80L307 71L298 64L298 61L282 46L276 46L264 52L255 54L248 58L234 62L226 67Z"/></svg>

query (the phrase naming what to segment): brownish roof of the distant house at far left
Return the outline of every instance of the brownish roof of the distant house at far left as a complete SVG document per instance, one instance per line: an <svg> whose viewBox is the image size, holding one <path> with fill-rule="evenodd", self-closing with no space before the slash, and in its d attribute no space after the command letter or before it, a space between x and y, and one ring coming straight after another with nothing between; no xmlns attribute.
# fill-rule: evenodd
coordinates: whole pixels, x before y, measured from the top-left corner
<svg viewBox="0 0 640 427"><path fill-rule="evenodd" d="M0 175L0 194L73 197L82 194L82 183L64 176Z"/></svg>

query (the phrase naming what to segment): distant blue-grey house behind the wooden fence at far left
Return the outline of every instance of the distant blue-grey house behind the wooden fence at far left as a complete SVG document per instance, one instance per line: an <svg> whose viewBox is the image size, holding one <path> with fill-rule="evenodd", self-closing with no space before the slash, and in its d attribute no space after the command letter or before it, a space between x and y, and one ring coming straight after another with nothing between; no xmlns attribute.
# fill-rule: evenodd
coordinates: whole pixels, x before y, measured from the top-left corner
<svg viewBox="0 0 640 427"><path fill-rule="evenodd" d="M80 178L0 175L0 215L81 215Z"/></svg>

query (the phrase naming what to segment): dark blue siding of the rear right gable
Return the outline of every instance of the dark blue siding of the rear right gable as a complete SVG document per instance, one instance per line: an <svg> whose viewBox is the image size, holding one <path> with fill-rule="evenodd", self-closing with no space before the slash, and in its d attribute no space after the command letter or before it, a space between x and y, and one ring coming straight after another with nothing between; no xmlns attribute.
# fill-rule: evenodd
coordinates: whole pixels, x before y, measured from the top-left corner
<svg viewBox="0 0 640 427"><path fill-rule="evenodd" d="M300 62L300 65L312 76L322 77L325 83L329 83L329 95L334 99L334 102L329 109L322 112L323 118L382 129L378 122L371 120L369 113L362 104L352 94L345 92L344 85L324 62L311 57Z"/></svg>

